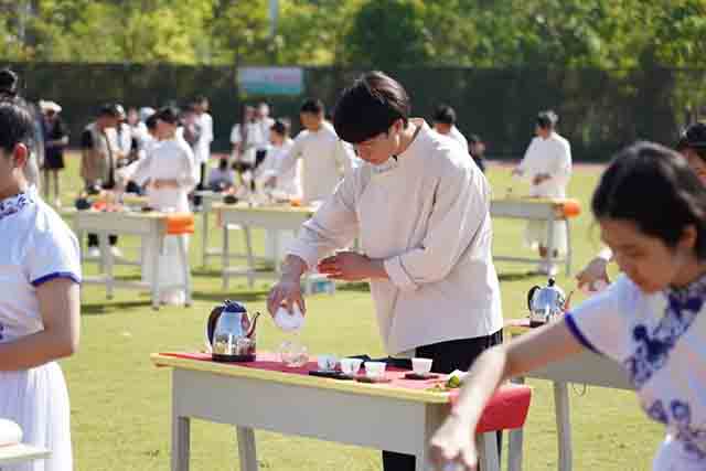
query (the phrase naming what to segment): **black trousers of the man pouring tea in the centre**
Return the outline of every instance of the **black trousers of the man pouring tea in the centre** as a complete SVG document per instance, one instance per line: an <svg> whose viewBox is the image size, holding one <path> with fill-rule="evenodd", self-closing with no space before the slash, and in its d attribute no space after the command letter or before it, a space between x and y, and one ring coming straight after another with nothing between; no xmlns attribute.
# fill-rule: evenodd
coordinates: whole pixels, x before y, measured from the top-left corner
<svg viewBox="0 0 706 471"><path fill-rule="evenodd" d="M501 343L503 343L502 329L491 335L479 336L475 339L452 340L449 342L424 345L415 351L415 356L434 360L434 363L431 364L431 371L434 373L449 374L454 370L466 372L471 367L475 358L483 353L483 351ZM500 432L498 437L500 441ZM416 458L414 454L383 451L383 470L414 471L415 460Z"/></svg>

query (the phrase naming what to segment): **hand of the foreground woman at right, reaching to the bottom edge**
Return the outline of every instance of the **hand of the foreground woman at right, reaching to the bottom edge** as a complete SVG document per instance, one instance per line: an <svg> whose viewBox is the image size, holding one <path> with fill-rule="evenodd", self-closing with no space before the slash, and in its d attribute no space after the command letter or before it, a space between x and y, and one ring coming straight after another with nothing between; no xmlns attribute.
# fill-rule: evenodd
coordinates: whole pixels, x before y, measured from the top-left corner
<svg viewBox="0 0 706 471"><path fill-rule="evenodd" d="M478 469L478 451L472 426L450 415L431 437L431 462L437 471Z"/></svg>

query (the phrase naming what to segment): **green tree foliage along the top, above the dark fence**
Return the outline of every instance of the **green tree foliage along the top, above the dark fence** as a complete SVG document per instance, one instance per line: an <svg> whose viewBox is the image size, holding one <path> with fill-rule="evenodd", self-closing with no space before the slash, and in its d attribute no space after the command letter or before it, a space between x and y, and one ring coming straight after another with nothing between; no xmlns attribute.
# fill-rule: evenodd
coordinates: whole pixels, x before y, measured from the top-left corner
<svg viewBox="0 0 706 471"><path fill-rule="evenodd" d="M0 0L9 61L706 67L706 0Z"/></svg>

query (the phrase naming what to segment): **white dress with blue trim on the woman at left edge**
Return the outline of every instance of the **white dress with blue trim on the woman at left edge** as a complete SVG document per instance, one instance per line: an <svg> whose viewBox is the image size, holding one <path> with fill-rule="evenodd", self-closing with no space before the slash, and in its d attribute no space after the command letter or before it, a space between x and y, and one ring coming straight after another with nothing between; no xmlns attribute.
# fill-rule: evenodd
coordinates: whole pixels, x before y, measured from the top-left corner
<svg viewBox="0 0 706 471"><path fill-rule="evenodd" d="M56 278L81 282L78 242L36 190L0 201L0 343L44 330L36 287ZM11 293L11 295L10 295ZM71 408L62 370L47 362L0 372L0 417L20 425L23 442L46 460L2 464L4 471L71 471Z"/></svg>

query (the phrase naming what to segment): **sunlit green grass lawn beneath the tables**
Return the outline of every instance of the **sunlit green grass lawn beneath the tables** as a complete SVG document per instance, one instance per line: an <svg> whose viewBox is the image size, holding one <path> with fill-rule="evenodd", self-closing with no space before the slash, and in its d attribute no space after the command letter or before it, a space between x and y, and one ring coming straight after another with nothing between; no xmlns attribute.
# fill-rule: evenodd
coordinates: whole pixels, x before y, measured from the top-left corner
<svg viewBox="0 0 706 471"><path fill-rule="evenodd" d="M64 204L79 188L77 159L69 159L63 175ZM509 170L491 167L490 180L498 195L505 193ZM599 169L579 168L570 194L581 200L585 213L571 226L575 271L598 248L598 232L588 214L590 193ZM515 194L521 188L515 188ZM494 250L518 254L523 226L511 221L494 223ZM217 244L218 239L214 239ZM238 242L239 243L239 242ZM108 301L100 287L83 290L83 322L79 352L62 362L72 400L72 432L76 469L168 470L170 453L170 374L152 366L149 355L167 350L194 350L203 344L203 327L212 307L225 298L244 300L252 310L264 310L267 283L247 289L244 280L232 280L228 292L221 291L218 265L201 268L200 235L191 239L194 303L191 308L167 308L154 312L147 293L118 290ZM261 243L260 243L261 244ZM133 239L122 239L127 250ZM525 315L527 290L542 277L527 275L530 267L499 264L505 318ZM94 271L86 267L86 272ZM121 275L136 276L135 268ZM558 283L574 283L561 272ZM580 296L575 298L580 300ZM313 353L338 355L382 354L366 288L341 286L335 296L318 295L308 300L309 317L302 333ZM268 319L259 325L260 350L275 350L282 340ZM525 428L525 469L556 469L554 403L549 383L533 381L534 395ZM287 400L282 397L282 400ZM662 437L662 427L641 413L633 394L577 385L570 394L574 462L577 470L644 470ZM338 443L258 433L261 469L268 470L378 470L377 450ZM192 469L237 469L235 430L194 421ZM506 453L505 453L506 454Z"/></svg>

